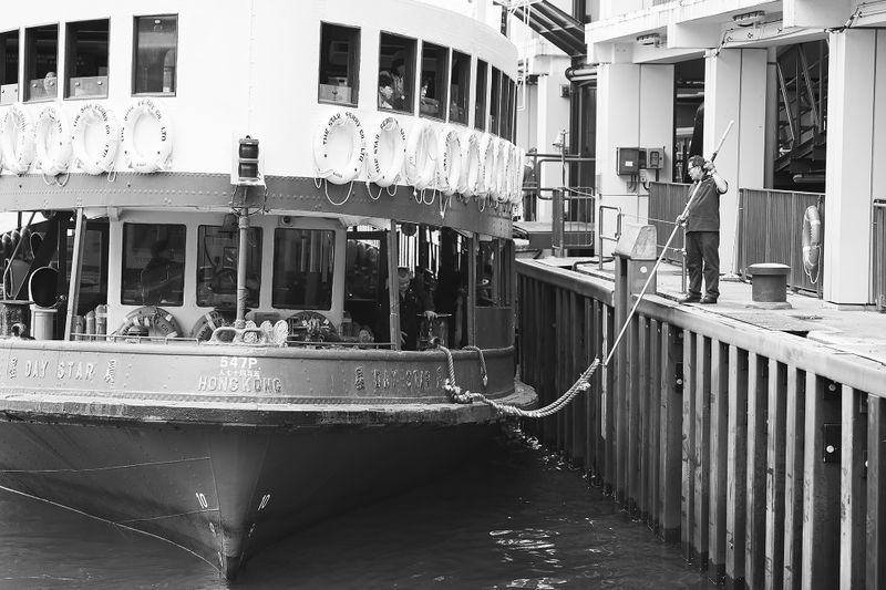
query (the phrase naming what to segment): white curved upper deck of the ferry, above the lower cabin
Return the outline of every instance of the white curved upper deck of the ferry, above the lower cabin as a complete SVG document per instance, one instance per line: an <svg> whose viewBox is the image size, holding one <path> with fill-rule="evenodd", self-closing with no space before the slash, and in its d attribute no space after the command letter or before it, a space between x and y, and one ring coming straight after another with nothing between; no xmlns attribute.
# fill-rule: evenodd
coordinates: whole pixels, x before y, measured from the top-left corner
<svg viewBox="0 0 886 590"><path fill-rule="evenodd" d="M237 141L249 135L260 141L260 172L268 187L268 198L261 200L271 211L439 219L440 211L432 210L436 207L415 206L411 189L396 194L402 198L368 198L372 193L361 182L371 177L362 163L372 155L388 157L378 145L369 153L372 131L387 117L394 117L406 136L430 124L434 143L444 132L454 130L461 137L475 132L495 147L494 163L502 172L493 177L505 177L506 166L516 168L512 164L517 152L509 142L516 49L484 23L421 2L163 0L75 6L50 0L4 10L0 54L7 64L0 70L0 207L6 210L84 207L95 209L87 213L94 217L107 207L225 209L235 194L230 175ZM401 96L382 104L381 73L396 71L399 61L405 64ZM144 99L162 111L163 123L141 116L127 127L127 114ZM121 133L105 136L96 125L86 128L78 144L78 117L87 105L97 105L94 112L106 114L109 126L115 123ZM53 136L52 125L41 126L49 106L63 120L61 130L73 127L73 154L65 163L70 177L63 183L44 182L54 172L50 167L47 175L47 161L64 159L45 147L41 157L41 141L65 135ZM10 116L13 110L17 114ZM361 124L368 153L352 187L318 189L312 180L320 176L317 137L342 113ZM32 157L22 147L29 134L25 123L35 133ZM130 146L148 159L163 153L158 172L140 174L144 169L133 165L123 132L130 132ZM346 162L357 149L348 141L338 137L330 144L338 153L333 155ZM467 141L461 144L464 149ZM99 154L101 161L109 147L115 154L99 162L104 168L99 174L83 162L87 158L79 157ZM437 145L429 149L427 157L442 159L431 154ZM415 186L400 176L395 185ZM504 201L503 183L485 193L496 193L493 200ZM334 204L351 195L351 188L346 211ZM426 188L437 188L436 183ZM504 211L461 217L452 213L446 225L509 234Z"/></svg>

